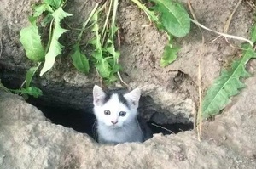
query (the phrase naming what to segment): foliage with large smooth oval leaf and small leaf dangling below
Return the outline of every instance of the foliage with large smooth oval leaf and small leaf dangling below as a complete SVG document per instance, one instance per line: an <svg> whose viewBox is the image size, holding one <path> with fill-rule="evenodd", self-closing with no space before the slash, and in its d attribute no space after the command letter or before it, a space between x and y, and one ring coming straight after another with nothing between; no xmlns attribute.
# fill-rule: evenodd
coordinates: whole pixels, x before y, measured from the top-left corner
<svg viewBox="0 0 256 169"><path fill-rule="evenodd" d="M145 5L138 0L131 0L148 15L150 20L158 26L160 30L164 30L168 34L169 43L166 44L164 54L160 59L160 65L165 67L170 65L177 59L178 48L173 48L172 36L184 37L190 30L189 14L183 8L181 3L173 0L151 0L155 3L152 10L149 10Z"/></svg>

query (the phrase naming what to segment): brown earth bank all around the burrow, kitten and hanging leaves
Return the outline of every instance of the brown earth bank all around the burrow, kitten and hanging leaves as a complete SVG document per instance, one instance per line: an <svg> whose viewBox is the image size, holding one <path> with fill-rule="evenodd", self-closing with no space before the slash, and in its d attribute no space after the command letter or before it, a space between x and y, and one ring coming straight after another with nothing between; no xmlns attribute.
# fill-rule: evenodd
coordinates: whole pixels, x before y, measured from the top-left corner
<svg viewBox="0 0 256 169"><path fill-rule="evenodd" d="M31 5L35 2L38 1L0 0L2 44L0 78L8 87L19 87L25 78L25 70L32 65L26 59L24 49L20 45L19 31L28 24L26 16L31 13ZM66 20L65 26L68 25L67 28L81 26L95 3L96 1L89 0L68 1L66 9L73 14L73 17ZM183 3L184 6L187 6L186 1ZM224 24L236 3L238 0L195 0L192 2L192 6L202 25L215 31L223 31ZM237 8L230 22L228 33L249 37L248 33L254 22L253 6L249 3L250 1L243 1ZM158 31L154 25L149 25L146 15L128 0L120 1L118 22L123 37L119 62L124 70L121 73L125 82L128 82L131 87L142 88L143 99L146 100L145 103L142 103L143 116L159 123L194 121L193 115L198 104L198 58L201 53L201 33L197 26L191 25L191 31L187 37L175 40L176 44L181 47L178 58L172 65L162 68L160 67L160 57L167 41L165 33ZM230 43L239 47L241 42L230 40L228 43L223 37L211 42L218 36L209 31L203 31L203 33L206 42L203 48L204 53L201 56L201 85L205 90L219 75L223 66L230 65L230 60L240 56L241 51L232 48ZM73 37L77 34L77 31L69 31L63 42L72 42ZM86 40L84 37L84 42ZM253 76L255 75L255 65L255 60L253 60L247 66ZM54 102L59 106L68 105L79 109L89 109L92 106L91 88L94 84L99 84L100 79L93 69L90 76L79 73L73 68L70 57L63 54L56 60L53 70L50 70L42 78L36 76L33 83L44 91L44 96L39 99L44 104ZM160 166L162 168L256 168L256 106L254 101L256 100L254 87L256 79L249 78L245 83L247 88L232 99L231 104L223 111L222 115L218 115L212 122L204 123L201 142L197 141L194 132L181 132L171 136L157 135L143 144L102 146L91 141L86 135L82 136L65 127L44 121L40 113L38 113L40 116L38 126L35 124L38 121L33 122L33 119L28 116L26 116L27 121L13 119L8 122L5 115L9 107L6 106L13 105L11 100L14 98L10 96L11 100L5 101L2 97L0 133L3 139L0 141L0 155L3 156L0 156L0 164L6 166L5 168L27 168L26 165L23 166L23 162L26 161L28 166L34 165L32 168L36 168L37 164L44 164L44 168L55 168L51 165L57 167L61 164L63 166L63 163L68 161L70 164L75 163L75 166L69 166L69 168L113 168L118 166L118 168L160 168ZM121 84L117 82L113 87L121 87ZM9 96L6 97L9 98ZM152 101L147 102L148 98ZM9 104L5 104L5 102ZM29 106L24 102L21 104ZM21 116L27 112L27 110L20 110L19 107L9 111L10 115L15 115L16 112ZM27 127L30 125L33 130L37 130L36 133L26 133ZM52 133L44 133L44 138L39 140L37 137L44 132L44 128L51 130ZM6 135L7 132L9 135ZM60 132L60 135L63 132L65 136L67 134L67 138L55 136L55 140L50 140L49 145L41 143L41 141L49 140L56 132ZM15 139L9 139L9 136ZM28 141L24 141L22 138L27 138ZM10 146L14 144L21 149L23 144L29 143L30 138L40 142L37 144L37 149L38 152L40 149L45 152L43 156L37 153L32 155L34 149L18 151L15 147ZM76 138L83 144L79 144ZM66 141L68 144L65 144ZM53 150L51 151L51 149ZM60 149L66 149L66 153L64 153L66 156L61 156L56 160L49 158L49 155L59 153ZM91 156L87 158L88 152L93 158ZM22 155L25 155L25 158L17 161L17 158L19 159Z"/></svg>

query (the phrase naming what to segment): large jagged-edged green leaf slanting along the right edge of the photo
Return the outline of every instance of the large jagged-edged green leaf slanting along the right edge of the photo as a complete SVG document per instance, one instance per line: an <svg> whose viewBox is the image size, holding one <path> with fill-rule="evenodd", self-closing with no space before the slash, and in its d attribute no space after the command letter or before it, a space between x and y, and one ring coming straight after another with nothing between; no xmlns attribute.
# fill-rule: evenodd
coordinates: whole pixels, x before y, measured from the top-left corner
<svg viewBox="0 0 256 169"><path fill-rule="evenodd" d="M214 82L212 87L207 90L207 94L202 103L202 116L207 118L211 115L217 115L230 102L230 97L239 93L239 89L246 87L240 81L241 77L248 77L245 65L249 59L255 57L251 46L244 48L241 59L233 62L230 70L223 70Z"/></svg>

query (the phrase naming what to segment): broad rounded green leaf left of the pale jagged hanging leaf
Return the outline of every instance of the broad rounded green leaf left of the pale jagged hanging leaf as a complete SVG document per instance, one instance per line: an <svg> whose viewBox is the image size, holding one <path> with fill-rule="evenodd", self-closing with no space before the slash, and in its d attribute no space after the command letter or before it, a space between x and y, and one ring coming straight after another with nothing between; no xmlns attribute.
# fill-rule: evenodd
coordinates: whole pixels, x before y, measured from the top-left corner
<svg viewBox="0 0 256 169"><path fill-rule="evenodd" d="M38 26L35 24L36 18L30 17L29 20L31 25L20 30L20 42L25 48L28 59L35 62L42 61L44 60L44 47L41 43Z"/></svg>

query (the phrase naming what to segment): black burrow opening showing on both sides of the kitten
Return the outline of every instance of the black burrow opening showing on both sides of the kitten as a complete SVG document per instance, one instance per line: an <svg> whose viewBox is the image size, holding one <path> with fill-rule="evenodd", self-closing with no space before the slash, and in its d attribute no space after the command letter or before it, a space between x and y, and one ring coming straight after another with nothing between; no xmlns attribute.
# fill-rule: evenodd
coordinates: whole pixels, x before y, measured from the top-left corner
<svg viewBox="0 0 256 169"><path fill-rule="evenodd" d="M70 127L77 132L87 133L91 138L96 136L96 116L92 110L76 110L68 107L56 107L42 104L37 99L28 99L27 102L35 105L41 110L46 118L51 122L62 125L63 127ZM55 104L52 104L55 105ZM143 118L143 117L142 117ZM193 123L172 123L172 124L158 124L156 121L149 119L147 121L148 127L154 133L174 134L177 132L188 131L193 128Z"/></svg>

